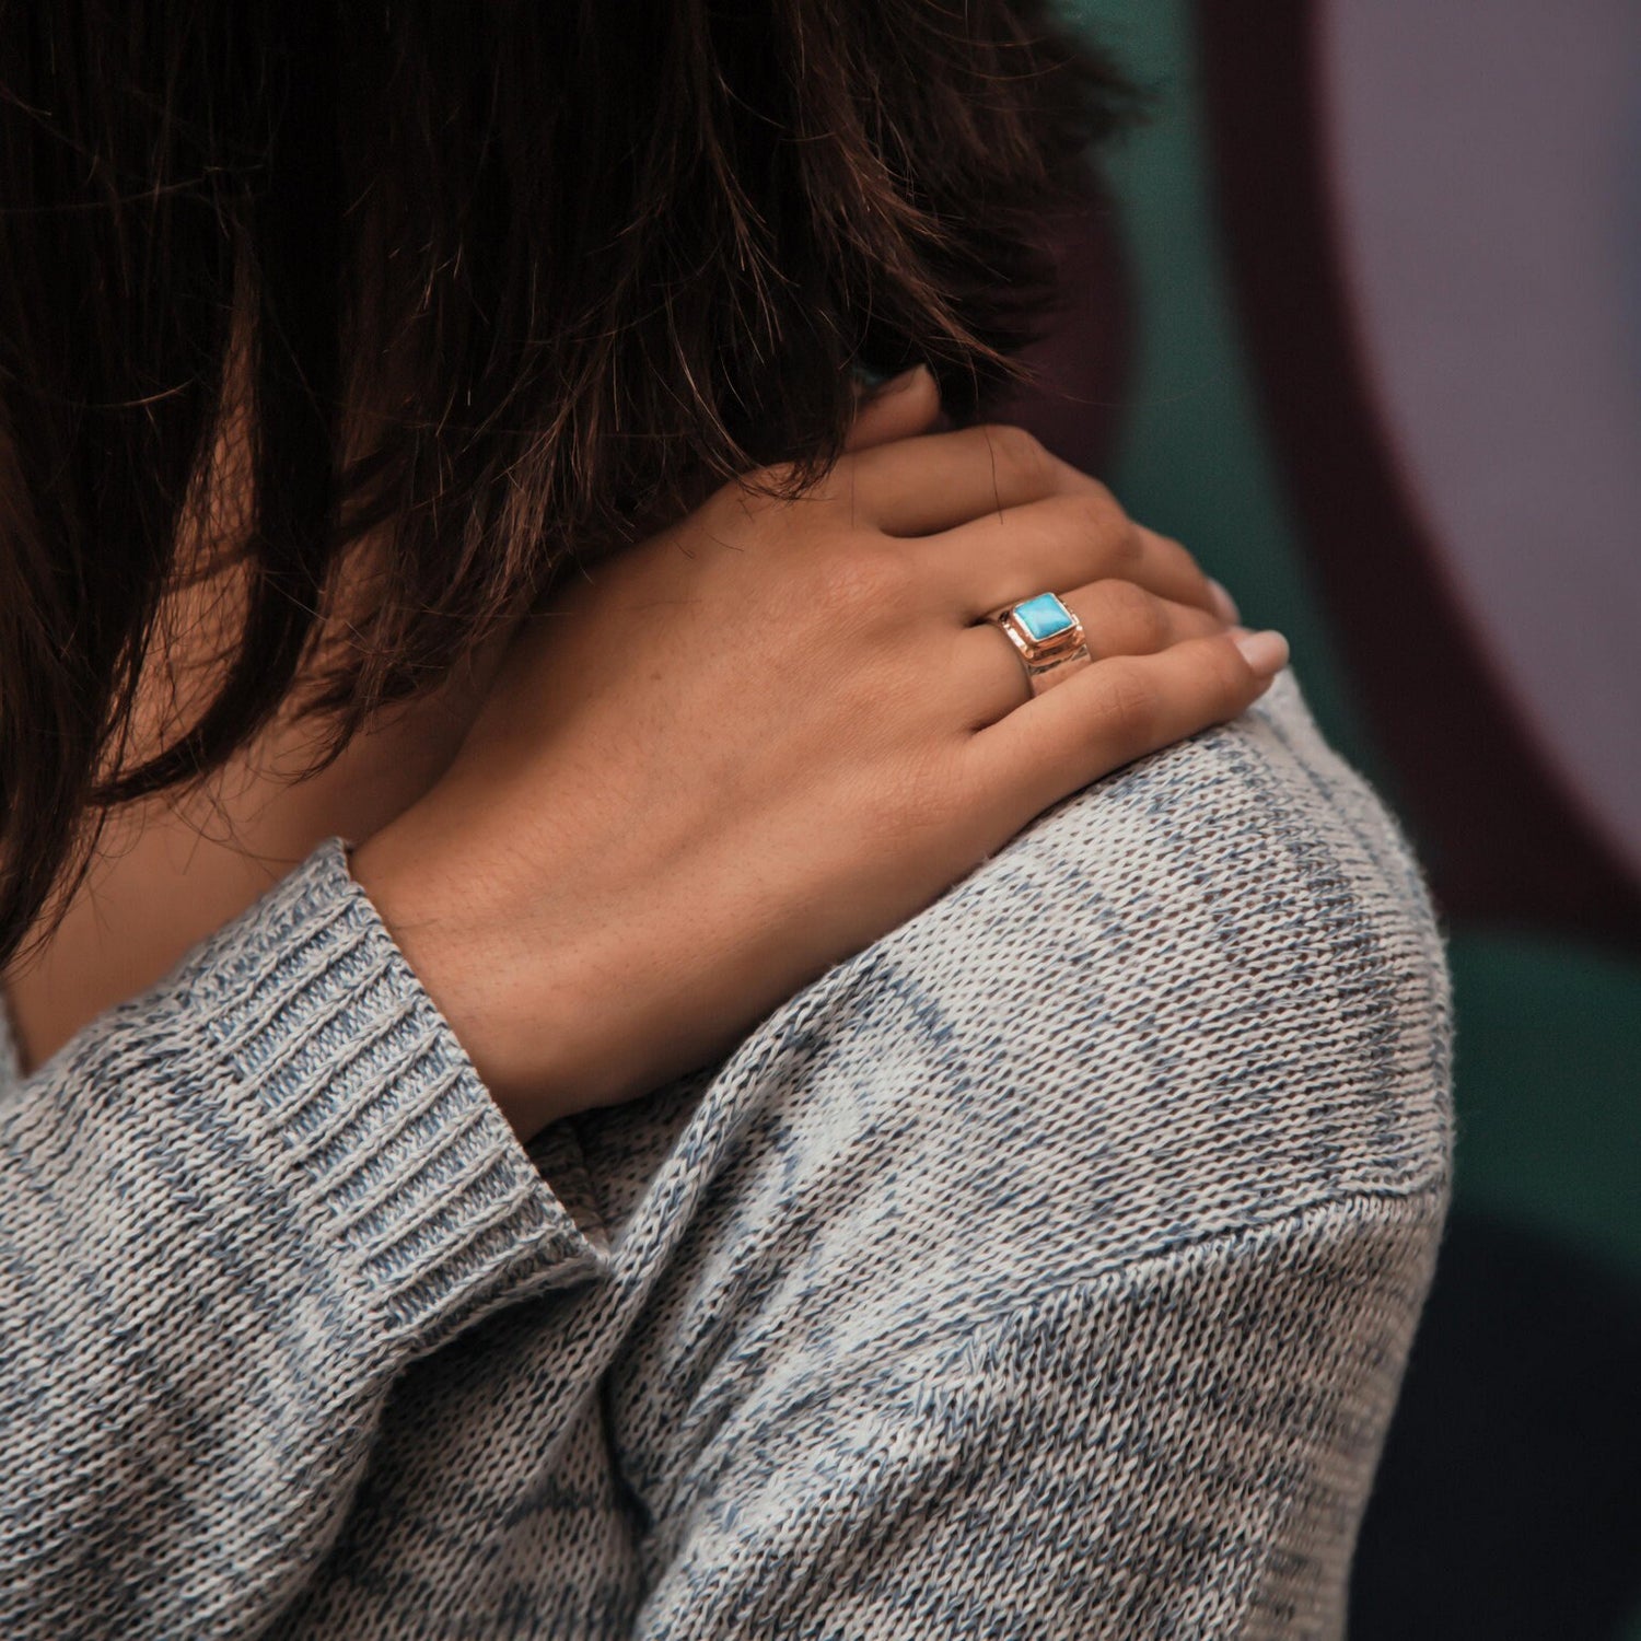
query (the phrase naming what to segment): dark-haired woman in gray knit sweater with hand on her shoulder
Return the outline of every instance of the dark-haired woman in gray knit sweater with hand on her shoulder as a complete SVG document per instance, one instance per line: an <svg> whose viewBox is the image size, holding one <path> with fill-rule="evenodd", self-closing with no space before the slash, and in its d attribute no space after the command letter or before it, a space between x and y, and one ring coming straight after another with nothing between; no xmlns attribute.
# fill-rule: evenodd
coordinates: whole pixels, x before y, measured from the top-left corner
<svg viewBox="0 0 1641 1641"><path fill-rule="evenodd" d="M1334 1633L1446 976L983 420L1103 66L0 16L0 1630Z"/></svg>

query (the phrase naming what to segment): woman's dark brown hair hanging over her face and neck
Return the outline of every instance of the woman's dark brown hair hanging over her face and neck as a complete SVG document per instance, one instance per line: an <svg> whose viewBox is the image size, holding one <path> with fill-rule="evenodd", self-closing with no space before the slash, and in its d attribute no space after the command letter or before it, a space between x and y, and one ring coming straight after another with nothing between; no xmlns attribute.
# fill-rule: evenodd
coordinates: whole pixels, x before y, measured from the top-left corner
<svg viewBox="0 0 1641 1641"><path fill-rule="evenodd" d="M340 748L569 555L811 481L862 363L983 414L1124 103L1042 0L0 0L0 963L299 676ZM133 757L189 517L241 596Z"/></svg>

